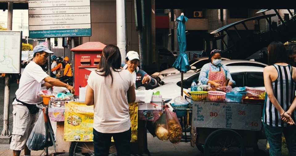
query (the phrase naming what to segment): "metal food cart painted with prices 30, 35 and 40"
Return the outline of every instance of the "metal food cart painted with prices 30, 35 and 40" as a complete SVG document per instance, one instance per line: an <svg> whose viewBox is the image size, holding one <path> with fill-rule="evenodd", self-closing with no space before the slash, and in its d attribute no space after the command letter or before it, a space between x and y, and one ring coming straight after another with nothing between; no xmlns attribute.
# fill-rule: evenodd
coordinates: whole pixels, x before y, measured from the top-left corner
<svg viewBox="0 0 296 156"><path fill-rule="evenodd" d="M205 156L244 156L246 148L253 148L254 155L265 154L257 145L258 139L265 137L260 103L192 101L191 104L190 109L175 109L190 112L191 131L186 135L185 124L181 122L185 132L182 141L191 140L191 146L196 145Z"/></svg>

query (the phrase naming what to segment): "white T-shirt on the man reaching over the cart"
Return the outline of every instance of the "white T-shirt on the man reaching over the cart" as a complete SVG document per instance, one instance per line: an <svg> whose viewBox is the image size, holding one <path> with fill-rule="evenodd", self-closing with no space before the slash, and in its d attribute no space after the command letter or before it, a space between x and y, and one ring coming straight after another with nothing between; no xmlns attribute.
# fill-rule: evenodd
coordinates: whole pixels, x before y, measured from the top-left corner
<svg viewBox="0 0 296 156"><path fill-rule="evenodd" d="M35 62L31 61L23 71L19 80L19 89L15 92L16 98L24 103L36 104L39 102L37 95L43 79L48 75ZM17 104L14 100L12 104Z"/></svg>

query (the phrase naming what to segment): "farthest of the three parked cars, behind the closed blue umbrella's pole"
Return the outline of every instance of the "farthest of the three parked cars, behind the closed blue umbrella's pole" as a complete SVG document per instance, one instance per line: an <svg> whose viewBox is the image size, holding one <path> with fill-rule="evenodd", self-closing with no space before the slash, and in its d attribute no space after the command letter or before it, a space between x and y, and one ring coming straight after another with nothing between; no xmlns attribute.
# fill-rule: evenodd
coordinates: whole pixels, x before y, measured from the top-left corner
<svg viewBox="0 0 296 156"><path fill-rule="evenodd" d="M228 58L222 57L222 60L229 60ZM209 62L209 57L199 57L189 60L190 68L191 70L187 71L187 73L193 73L197 70L199 70L201 67L203 67L204 64ZM152 74L152 77L158 77L158 80L161 80L162 78L180 73L178 70L176 70L174 67L168 68L166 70L162 70L161 72L156 72Z"/></svg>

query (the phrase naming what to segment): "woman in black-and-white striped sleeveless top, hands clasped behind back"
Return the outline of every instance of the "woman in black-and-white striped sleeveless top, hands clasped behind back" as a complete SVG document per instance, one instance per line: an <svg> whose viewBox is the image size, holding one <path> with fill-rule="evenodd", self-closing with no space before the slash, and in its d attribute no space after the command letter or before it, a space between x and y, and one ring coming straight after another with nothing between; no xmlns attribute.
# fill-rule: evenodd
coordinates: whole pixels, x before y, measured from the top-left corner
<svg viewBox="0 0 296 156"><path fill-rule="evenodd" d="M269 66L263 73L268 96L265 97L262 120L269 142L269 155L282 155L284 133L290 155L296 156L296 68L287 64L286 48L281 42L271 42L267 50Z"/></svg>

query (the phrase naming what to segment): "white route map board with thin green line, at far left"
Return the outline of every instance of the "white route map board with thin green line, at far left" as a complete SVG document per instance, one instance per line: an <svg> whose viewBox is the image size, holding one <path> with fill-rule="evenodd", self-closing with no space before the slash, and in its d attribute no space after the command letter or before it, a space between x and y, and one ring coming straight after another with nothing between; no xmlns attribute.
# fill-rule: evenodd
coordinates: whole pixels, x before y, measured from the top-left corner
<svg viewBox="0 0 296 156"><path fill-rule="evenodd" d="M0 31L0 73L20 73L21 34Z"/></svg>

